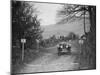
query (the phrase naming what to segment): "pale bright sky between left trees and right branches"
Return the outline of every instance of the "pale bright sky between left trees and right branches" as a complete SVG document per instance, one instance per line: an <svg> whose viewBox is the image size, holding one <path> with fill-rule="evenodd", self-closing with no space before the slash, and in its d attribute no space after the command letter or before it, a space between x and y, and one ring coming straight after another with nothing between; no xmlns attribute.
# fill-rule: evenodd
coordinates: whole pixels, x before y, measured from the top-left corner
<svg viewBox="0 0 100 75"><path fill-rule="evenodd" d="M49 3L35 3L35 7L37 11L40 13L38 14L38 18L41 19L41 25L52 25L56 23L56 13L62 5L61 4L49 4Z"/></svg>

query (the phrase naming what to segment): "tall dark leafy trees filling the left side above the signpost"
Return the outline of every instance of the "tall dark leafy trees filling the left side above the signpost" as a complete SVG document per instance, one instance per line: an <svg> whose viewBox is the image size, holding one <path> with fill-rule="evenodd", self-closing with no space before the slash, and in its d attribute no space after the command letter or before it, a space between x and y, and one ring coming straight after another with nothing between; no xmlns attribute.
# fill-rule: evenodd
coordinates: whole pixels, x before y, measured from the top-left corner
<svg viewBox="0 0 100 75"><path fill-rule="evenodd" d="M27 45L42 38L40 22L35 14L34 5L24 1L12 1L12 45L21 38L26 38ZM20 42L19 42L20 43Z"/></svg>

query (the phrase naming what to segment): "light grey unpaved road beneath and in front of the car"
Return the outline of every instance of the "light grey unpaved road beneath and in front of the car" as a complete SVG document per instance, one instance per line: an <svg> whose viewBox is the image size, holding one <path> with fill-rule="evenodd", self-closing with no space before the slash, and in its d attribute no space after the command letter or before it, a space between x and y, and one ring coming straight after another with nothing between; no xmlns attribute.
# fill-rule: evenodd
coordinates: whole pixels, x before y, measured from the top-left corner
<svg viewBox="0 0 100 75"><path fill-rule="evenodd" d="M44 51L44 52L43 52ZM50 72L50 71L67 71L77 70L79 63L76 63L76 55L79 54L78 46L72 43L72 53L70 55L57 55L57 46L46 48L44 54L35 61L24 63L18 73Z"/></svg>

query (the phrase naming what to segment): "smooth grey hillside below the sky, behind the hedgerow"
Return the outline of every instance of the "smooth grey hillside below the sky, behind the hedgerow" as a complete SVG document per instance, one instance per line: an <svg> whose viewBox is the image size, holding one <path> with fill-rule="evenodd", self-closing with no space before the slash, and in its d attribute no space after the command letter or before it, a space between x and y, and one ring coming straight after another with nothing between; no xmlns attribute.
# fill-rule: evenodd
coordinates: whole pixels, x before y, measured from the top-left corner
<svg viewBox="0 0 100 75"><path fill-rule="evenodd" d="M84 34L83 19L74 22L42 26L44 29L43 38L48 38L52 35L68 35L69 32L74 32L78 35ZM86 30L89 31L89 20L86 19Z"/></svg>

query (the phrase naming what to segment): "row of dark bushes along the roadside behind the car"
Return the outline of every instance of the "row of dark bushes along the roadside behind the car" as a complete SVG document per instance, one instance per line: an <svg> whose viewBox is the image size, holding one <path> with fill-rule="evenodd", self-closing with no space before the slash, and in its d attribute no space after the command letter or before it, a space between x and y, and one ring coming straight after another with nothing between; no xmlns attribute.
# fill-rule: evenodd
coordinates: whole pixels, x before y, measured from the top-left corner
<svg viewBox="0 0 100 75"><path fill-rule="evenodd" d="M77 40L79 39L79 36L75 34L74 32L70 32L68 35L60 35L59 37L56 35L52 35L51 37L47 39L42 39L40 42L40 45L42 47L52 47L57 45L58 43L65 41L68 42L69 40Z"/></svg>

